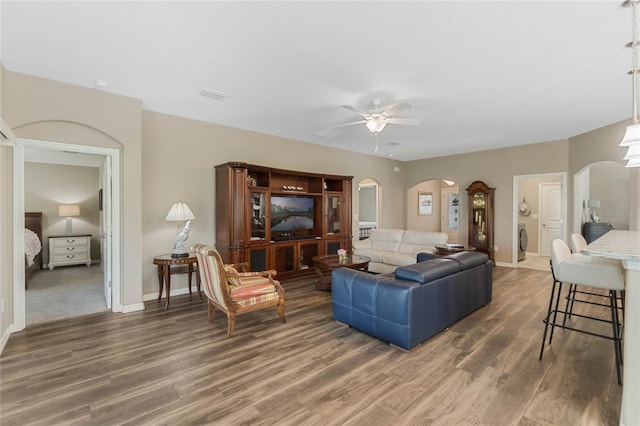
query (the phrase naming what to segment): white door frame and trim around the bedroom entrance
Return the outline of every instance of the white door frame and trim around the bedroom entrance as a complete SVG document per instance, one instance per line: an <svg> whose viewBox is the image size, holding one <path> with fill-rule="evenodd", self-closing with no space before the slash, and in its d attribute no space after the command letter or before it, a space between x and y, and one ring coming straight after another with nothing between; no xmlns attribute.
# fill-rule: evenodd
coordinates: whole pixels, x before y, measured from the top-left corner
<svg viewBox="0 0 640 426"><path fill-rule="evenodd" d="M75 164L85 165L82 163L83 158L92 158L100 161L99 165L92 164L91 167L98 167L99 173L96 174L95 182L95 198L98 199L98 189L100 188L100 225L99 230L96 232L98 236L98 246L100 247L100 264L101 271L98 271L98 275L93 273L93 278L88 278L93 281L100 280L97 286L97 297L102 298L103 306L107 309L111 309L114 312L120 312L122 310L121 304L121 288L120 288L120 151L118 149L101 148L84 145L70 145L48 141L38 140L19 140L14 153L14 214L17 218L24 218L25 209L25 150L35 150L40 154L44 154L49 163L51 164ZM79 163L78 163L79 162ZM97 204L97 203L96 203ZM98 206L96 205L96 209ZM54 216L57 216L55 213ZM57 219L57 218L56 218ZM16 220L14 222L14 235L16 240L15 247L15 259L24 257L24 241L18 239L18 235L22 235L21 227L24 226L22 221ZM18 241L20 240L20 241ZM42 242L43 246L48 246L47 241ZM82 272L84 278L87 279L88 270L83 269L80 266L69 266L58 269L68 269L69 272L72 269L78 269L78 272ZM84 267L86 268L86 266ZM93 265L91 268L99 268L99 266ZM42 273L42 272L41 272ZM91 274L89 274L91 275ZM96 278L97 277L97 278ZM24 269L14 268L14 331L22 330L26 322L26 291L24 288ZM70 301L70 303L74 303ZM82 315L83 312L78 312L77 315Z"/></svg>

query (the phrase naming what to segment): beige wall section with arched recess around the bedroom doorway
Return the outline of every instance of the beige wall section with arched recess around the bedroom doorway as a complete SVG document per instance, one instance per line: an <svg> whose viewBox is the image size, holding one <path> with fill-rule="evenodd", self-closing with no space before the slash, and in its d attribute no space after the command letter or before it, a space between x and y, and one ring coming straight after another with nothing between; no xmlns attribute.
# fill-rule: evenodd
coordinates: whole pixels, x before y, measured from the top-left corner
<svg viewBox="0 0 640 426"><path fill-rule="evenodd" d="M19 138L121 152L122 303L142 303L142 103L139 99L7 71L4 119Z"/></svg>

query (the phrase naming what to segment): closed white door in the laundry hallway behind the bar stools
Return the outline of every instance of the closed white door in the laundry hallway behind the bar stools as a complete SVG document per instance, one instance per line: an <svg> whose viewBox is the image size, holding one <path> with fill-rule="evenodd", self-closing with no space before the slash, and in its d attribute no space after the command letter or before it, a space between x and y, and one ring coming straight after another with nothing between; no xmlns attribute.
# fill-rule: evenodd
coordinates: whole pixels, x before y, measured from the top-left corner
<svg viewBox="0 0 640 426"><path fill-rule="evenodd" d="M540 247L538 252L551 256L551 242L562 238L562 186L559 183L541 183L540 193Z"/></svg>

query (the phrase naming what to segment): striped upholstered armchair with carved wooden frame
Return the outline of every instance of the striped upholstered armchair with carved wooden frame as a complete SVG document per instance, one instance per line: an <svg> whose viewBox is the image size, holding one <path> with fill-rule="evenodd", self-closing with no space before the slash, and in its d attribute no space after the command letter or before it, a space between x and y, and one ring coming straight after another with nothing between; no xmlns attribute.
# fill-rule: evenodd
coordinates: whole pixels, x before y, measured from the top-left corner
<svg viewBox="0 0 640 426"><path fill-rule="evenodd" d="M214 309L227 314L227 337L233 334L236 316L262 308L276 306L285 322L284 289L273 279L276 271L238 272L235 265L225 265L220 253L211 246L195 244L191 250L198 256L202 287L207 295L209 321Z"/></svg>

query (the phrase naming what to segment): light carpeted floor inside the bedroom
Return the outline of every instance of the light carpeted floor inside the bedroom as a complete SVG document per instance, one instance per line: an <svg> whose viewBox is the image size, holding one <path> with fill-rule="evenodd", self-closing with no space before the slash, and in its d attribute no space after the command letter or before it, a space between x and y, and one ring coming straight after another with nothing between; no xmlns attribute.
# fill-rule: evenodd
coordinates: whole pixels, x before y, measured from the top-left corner
<svg viewBox="0 0 640 426"><path fill-rule="evenodd" d="M43 269L31 277L26 292L27 325L107 310L100 265Z"/></svg>

